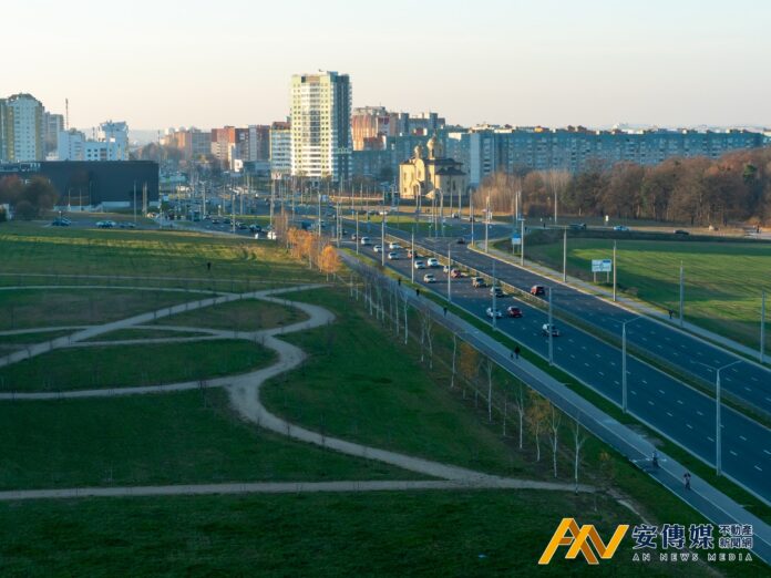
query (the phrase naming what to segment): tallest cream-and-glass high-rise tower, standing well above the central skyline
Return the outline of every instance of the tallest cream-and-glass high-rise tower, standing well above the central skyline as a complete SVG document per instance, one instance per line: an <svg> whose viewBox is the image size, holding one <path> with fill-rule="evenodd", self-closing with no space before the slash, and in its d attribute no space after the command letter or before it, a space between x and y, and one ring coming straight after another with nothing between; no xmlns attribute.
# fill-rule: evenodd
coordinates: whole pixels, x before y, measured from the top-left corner
<svg viewBox="0 0 771 578"><path fill-rule="evenodd" d="M291 78L291 174L347 180L351 175L351 84L348 74Z"/></svg>

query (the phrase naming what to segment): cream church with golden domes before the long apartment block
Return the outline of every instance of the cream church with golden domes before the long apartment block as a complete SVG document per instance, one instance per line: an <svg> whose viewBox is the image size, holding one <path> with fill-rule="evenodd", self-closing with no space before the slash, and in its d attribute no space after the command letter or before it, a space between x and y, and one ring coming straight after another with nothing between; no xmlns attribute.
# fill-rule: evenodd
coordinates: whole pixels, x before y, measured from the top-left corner
<svg viewBox="0 0 771 578"><path fill-rule="evenodd" d="M444 157L441 141L433 135L425 144L415 146L412 158L399 165L399 194L403 199L432 199L442 195L445 199L464 199L469 177L463 164ZM428 153L428 154L426 154Z"/></svg>

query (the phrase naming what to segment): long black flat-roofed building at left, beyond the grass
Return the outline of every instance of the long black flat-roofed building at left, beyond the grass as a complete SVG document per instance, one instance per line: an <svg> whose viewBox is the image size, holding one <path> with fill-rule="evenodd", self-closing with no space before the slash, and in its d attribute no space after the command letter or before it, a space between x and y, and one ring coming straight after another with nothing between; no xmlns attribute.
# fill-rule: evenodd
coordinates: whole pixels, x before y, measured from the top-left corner
<svg viewBox="0 0 771 578"><path fill-rule="evenodd" d="M58 205L132 205L158 200L158 164L153 161L48 161L0 164L0 178L16 175L48 178L59 193Z"/></svg>

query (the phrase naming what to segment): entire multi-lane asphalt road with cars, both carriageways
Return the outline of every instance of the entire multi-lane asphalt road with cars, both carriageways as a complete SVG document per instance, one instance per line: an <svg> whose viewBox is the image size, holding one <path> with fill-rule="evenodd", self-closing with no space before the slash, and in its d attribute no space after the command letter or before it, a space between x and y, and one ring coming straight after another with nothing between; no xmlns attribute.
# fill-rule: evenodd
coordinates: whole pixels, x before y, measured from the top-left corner
<svg viewBox="0 0 771 578"><path fill-rule="evenodd" d="M389 233L394 237L400 237L402 245L407 246L408 239L403 231L391 229ZM377 237L373 235L374 239ZM446 254L448 242L453 242L453 262L492 272L491 258L471 251L463 245L456 245L454 240L443 239L442 241L436 241L434 247L439 254ZM429 245L425 241L426 239L421 239L422 245ZM360 250L366 250L370 256L380 258L380 255L373 254L371 247L360 247ZM405 257L405 255L402 251L402 256ZM404 278L410 278L411 262L410 259L403 258L389 260L388 266L399 271ZM422 281L424 272L426 271L415 271L415 282L426 285ZM440 293L446 295L446 276L442 272L442 269L433 269L431 272L438 279L436 283L432 283L432 288ZM543 277L511 265L498 261L495 272L497 279L523 289L530 288L532 285L553 286L553 299L561 307L573 311L574 314L580 314L590 323L602 323L602 327L608 331L620 332L620 322L635 317L611 303L603 302L597 298L568 287L558 286L558 283L553 283ZM472 288L467 278L452 280L451 285L452 301L454 303L490 321L485 314L485 309L492 305L489 289ZM521 319L504 317L497 320L497 329L528 349L546 357L548 339L543 336L541 330L542 326L547 321L546 313L542 309L532 307L525 301L517 301L511 296L497 299L498 309L505 311L505 307L508 305L520 307L524 316ZM606 398L620 404L620 351L585 331L567 326L564 322L557 322L557 324L562 330L562 336L555 338L553 342L555 364L567 370ZM633 333L631 327L634 326L637 327ZM698 353L693 353L693 355L700 361L703 358L705 363L713 363L716 368L720 367L720 363L726 358L729 359L729 362L734 359L730 354L717 350L717 348L703 344L680 331L668 329L654 321L641 319L635 322L634 326L628 327L629 341L631 342L633 336L635 336L635 344L639 344L639 347L642 347L646 342L650 342L654 348L656 343L661 343L662 347L667 348L667 354L677 352L683 359L687 351L698 350L701 351L701 355ZM667 330L670 333L667 333ZM666 338L669 338L669 340ZM681 340L683 341L682 344L686 345L685 348L680 347ZM737 371L733 372L733 369L737 369ZM751 363L742 363L723 372L722 379L727 389L729 386L733 390L743 388L740 381L742 371L751 372L751 374L758 372L755 376L759 380L763 379L754 388L749 385L757 395L762 392L763 385L769 386L768 378L762 378L763 372L765 372L764 369L754 367ZM729 376L730 380L727 379ZM751 378L750 382L755 383ZM628 409L634 415L708 463L715 463L716 402L712 398L631 355L627 357L627 386ZM765 394L768 395L768 392ZM754 400L755 398L752 399ZM723 472L767 502L771 502L771 431L746 415L724 406L722 409L721 431Z"/></svg>

